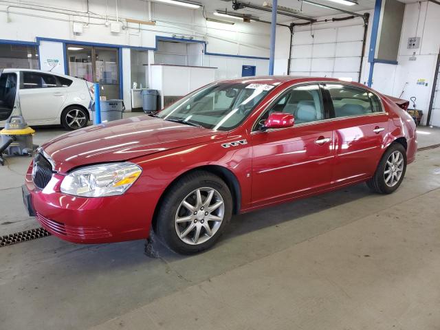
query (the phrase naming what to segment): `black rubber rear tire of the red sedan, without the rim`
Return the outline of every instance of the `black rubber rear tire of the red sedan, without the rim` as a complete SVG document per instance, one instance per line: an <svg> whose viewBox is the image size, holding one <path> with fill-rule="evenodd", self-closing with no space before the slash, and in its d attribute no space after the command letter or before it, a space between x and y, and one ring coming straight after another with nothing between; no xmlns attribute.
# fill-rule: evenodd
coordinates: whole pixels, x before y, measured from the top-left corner
<svg viewBox="0 0 440 330"><path fill-rule="evenodd" d="M401 157L403 159L403 168L401 168L401 176L399 177L398 181L395 182L393 186L389 186L386 183L385 171L387 168L386 166L387 166L388 158L390 158L390 156L393 153L401 154ZM404 146L395 142L391 144L391 146L388 146L384 155L382 155L379 164L377 165L377 169L375 171L374 176L369 181L366 181L366 185L374 192L378 192L380 194L391 194L392 192L395 192L397 188L399 188L401 181L403 181L404 179L405 172L406 172L406 150Z"/></svg>

